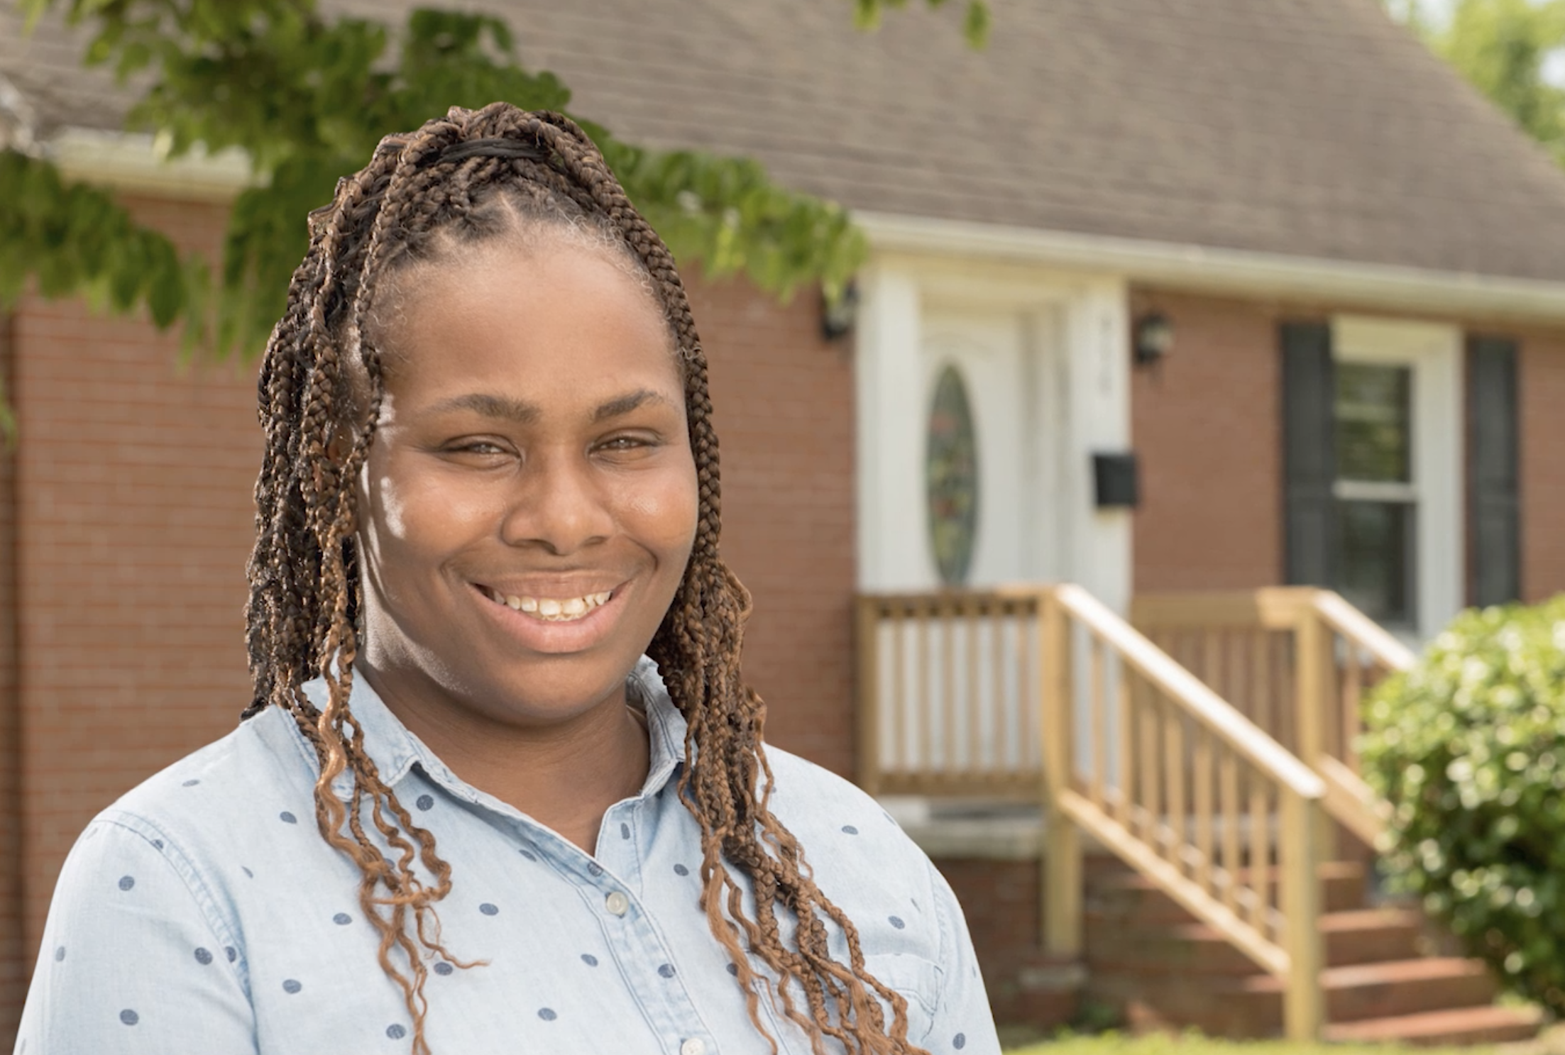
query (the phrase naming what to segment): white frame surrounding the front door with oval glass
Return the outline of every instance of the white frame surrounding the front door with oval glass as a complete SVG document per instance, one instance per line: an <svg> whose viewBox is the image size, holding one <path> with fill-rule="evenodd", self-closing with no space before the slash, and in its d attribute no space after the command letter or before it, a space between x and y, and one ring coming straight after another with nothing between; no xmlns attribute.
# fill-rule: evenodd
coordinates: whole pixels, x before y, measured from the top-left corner
<svg viewBox="0 0 1565 1055"><path fill-rule="evenodd" d="M1092 454L1130 449L1128 288L1117 275L1074 274L980 258L878 254L859 275L854 347L859 590L939 585L928 554L923 445L928 394L923 321L936 311L1056 319L1058 421L1038 437L1055 457L1038 479L1055 504L1055 581L1078 582L1128 610L1131 518L1099 510ZM1052 481L1050 481L1052 477ZM1044 488L1039 488L1044 490ZM1028 513L1038 523L1038 507Z"/></svg>

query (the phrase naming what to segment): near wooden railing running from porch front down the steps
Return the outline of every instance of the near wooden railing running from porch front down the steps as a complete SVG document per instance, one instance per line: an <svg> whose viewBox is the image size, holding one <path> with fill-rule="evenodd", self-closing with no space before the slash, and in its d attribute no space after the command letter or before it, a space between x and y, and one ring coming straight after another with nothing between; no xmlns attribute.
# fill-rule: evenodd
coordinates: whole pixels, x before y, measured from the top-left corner
<svg viewBox="0 0 1565 1055"><path fill-rule="evenodd" d="M1039 795L1044 939L1081 947L1081 833L1285 981L1313 1038L1326 784L1072 585L859 600L861 780ZM1034 717L1028 717L1034 715Z"/></svg>

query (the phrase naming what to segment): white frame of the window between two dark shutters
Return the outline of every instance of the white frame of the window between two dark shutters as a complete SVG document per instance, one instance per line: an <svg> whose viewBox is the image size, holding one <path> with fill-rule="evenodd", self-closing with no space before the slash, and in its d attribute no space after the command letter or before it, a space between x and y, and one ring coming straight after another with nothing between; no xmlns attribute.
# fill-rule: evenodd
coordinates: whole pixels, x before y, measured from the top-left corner
<svg viewBox="0 0 1565 1055"><path fill-rule="evenodd" d="M1427 640L1462 610L1466 595L1462 330L1341 315L1332 319L1332 355L1413 368L1415 629Z"/></svg>

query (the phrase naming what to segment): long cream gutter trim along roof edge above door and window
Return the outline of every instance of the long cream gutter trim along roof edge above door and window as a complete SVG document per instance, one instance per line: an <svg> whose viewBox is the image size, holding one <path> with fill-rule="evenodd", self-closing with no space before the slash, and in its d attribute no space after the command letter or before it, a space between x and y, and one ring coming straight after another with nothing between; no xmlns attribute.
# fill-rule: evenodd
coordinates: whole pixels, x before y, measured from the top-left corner
<svg viewBox="0 0 1565 1055"><path fill-rule="evenodd" d="M880 252L981 257L1119 274L1205 293L1341 305L1565 321L1565 282L1213 249L1108 235L854 211Z"/></svg>

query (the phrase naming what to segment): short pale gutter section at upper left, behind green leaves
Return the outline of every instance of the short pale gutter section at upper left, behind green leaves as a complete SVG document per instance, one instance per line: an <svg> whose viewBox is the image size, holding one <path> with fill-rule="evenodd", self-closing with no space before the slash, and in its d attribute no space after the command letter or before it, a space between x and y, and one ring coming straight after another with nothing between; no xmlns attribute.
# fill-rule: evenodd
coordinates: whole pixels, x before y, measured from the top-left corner
<svg viewBox="0 0 1565 1055"><path fill-rule="evenodd" d="M45 157L72 180L160 197L230 202L250 186L250 158L230 147L208 155L196 147L167 160L149 135L66 128L44 144Z"/></svg>

